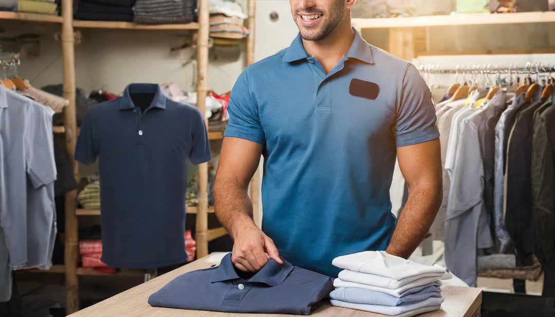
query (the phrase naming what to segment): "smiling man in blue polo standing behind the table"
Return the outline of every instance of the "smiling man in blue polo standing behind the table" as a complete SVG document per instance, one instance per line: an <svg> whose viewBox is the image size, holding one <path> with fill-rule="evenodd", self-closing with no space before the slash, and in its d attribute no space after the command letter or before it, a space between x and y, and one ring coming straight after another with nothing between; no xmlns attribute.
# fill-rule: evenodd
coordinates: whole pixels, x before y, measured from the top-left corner
<svg viewBox="0 0 555 317"><path fill-rule="evenodd" d="M412 64L351 28L354 2L290 0L299 36L246 68L231 90L214 197L239 270L281 255L337 276L339 255L407 258L435 218L441 159L430 89ZM262 230L246 192L261 154ZM397 223L396 154L409 188Z"/></svg>

